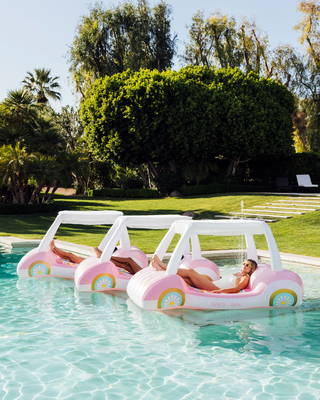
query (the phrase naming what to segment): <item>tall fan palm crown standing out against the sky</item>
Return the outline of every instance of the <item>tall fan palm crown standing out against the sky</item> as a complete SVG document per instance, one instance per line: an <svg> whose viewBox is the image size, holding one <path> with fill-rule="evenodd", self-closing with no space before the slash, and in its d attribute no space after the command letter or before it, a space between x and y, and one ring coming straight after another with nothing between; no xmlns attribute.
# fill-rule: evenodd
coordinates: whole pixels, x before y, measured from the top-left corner
<svg viewBox="0 0 320 400"><path fill-rule="evenodd" d="M46 70L44 68L34 68L35 77L32 72L27 71L28 76L24 78L22 83L25 83L24 88L28 90L30 93L35 94L37 98L37 103L48 102L48 98L52 100L61 100L62 96L59 92L55 92L54 89L61 89L61 86L58 82L55 82L59 79L59 76L55 76L52 78L50 76L50 70Z"/></svg>

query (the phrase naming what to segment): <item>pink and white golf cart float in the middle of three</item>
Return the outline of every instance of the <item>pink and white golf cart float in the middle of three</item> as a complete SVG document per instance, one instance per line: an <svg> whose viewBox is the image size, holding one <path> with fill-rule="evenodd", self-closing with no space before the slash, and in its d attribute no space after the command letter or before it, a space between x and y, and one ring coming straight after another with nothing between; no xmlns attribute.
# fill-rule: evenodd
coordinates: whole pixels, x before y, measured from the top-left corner
<svg viewBox="0 0 320 400"><path fill-rule="evenodd" d="M131 257L141 268L148 267L146 254L138 247L131 246L127 228L168 229L177 220L191 222L192 218L181 215L118 217L99 246L100 250L102 250L101 257L92 256L80 262L74 275L76 289L79 292L126 290L132 274L123 268L117 267L110 260L111 256ZM120 246L117 245L119 241ZM117 250L114 251L116 246ZM188 258L190 246L189 248L185 246L184 254ZM213 262L208 260L205 260L205 262L211 263L212 266L218 268ZM207 274L212 274L212 272L206 272Z"/></svg>

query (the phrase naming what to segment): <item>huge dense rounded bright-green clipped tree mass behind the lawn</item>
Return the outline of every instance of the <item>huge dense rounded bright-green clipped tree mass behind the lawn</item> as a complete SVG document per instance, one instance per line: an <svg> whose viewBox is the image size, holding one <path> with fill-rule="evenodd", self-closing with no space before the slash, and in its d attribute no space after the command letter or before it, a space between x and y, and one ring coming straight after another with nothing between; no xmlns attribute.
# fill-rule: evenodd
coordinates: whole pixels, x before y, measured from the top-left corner
<svg viewBox="0 0 320 400"><path fill-rule="evenodd" d="M148 173L223 156L228 174L257 154L293 151L293 96L239 69L126 71L97 80L80 110L96 157Z"/></svg>

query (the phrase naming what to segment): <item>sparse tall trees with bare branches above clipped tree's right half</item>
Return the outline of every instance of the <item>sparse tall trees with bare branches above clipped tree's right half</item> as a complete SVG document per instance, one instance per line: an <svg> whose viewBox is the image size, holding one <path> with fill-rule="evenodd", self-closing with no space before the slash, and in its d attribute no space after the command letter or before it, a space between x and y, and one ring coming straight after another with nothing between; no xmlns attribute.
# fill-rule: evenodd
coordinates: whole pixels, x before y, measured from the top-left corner
<svg viewBox="0 0 320 400"><path fill-rule="evenodd" d="M234 16L220 10L207 18L202 10L192 16L189 41L180 55L183 63L209 67L239 67L245 72L272 76L268 61L268 36L255 20L242 17L237 26ZM271 68L270 68L271 67Z"/></svg>

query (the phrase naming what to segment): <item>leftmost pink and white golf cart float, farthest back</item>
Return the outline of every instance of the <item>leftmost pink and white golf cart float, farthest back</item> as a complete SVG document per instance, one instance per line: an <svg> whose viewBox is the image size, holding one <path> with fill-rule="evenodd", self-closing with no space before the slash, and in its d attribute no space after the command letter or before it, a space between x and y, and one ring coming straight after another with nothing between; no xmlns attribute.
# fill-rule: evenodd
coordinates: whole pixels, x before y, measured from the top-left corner
<svg viewBox="0 0 320 400"><path fill-rule="evenodd" d="M113 224L121 211L60 211L53 224L44 235L39 246L23 256L17 266L20 277L43 278L59 276L74 278L78 264L65 260L49 249L49 243L54 238L60 224L102 225Z"/></svg>

